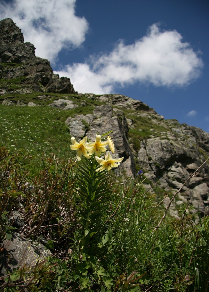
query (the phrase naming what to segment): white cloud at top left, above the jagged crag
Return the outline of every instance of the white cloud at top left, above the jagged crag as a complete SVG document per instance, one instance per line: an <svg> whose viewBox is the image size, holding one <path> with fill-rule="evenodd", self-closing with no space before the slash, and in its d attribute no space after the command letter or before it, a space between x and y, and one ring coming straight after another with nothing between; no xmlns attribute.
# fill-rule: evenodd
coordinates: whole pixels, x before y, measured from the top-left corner
<svg viewBox="0 0 209 292"><path fill-rule="evenodd" d="M85 41L88 23L75 15L76 0L14 0L0 2L0 18L12 18L35 54L56 60L62 48L76 48Z"/></svg>

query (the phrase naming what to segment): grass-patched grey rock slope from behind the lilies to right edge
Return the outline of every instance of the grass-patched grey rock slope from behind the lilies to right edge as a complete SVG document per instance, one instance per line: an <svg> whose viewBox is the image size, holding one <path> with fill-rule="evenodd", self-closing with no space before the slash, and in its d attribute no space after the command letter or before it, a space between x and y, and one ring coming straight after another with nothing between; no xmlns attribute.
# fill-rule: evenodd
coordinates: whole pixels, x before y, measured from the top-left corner
<svg viewBox="0 0 209 292"><path fill-rule="evenodd" d="M147 189L160 180L158 186L162 192L165 190L174 194L209 156L209 134L199 128L181 125L176 120L165 120L143 102L123 95L86 94L85 97L105 102L106 105L95 107L93 114L69 117L66 124L71 135L78 140L87 135L94 141L95 133L102 134L113 130L111 137L115 144L116 157L124 156L120 173L134 177L136 167L143 169L147 178L144 181L147 183ZM125 115L126 109L132 110L133 113ZM150 134L144 137L143 123L142 129L139 128L135 124L137 119L142 119L144 123L147 121ZM156 129L152 127L160 130L156 133ZM139 147L135 147L131 131L138 135ZM201 214L207 210L208 163L183 187L176 204L182 202L192 203L195 210L199 210ZM176 209L174 204L172 212L175 213Z"/></svg>

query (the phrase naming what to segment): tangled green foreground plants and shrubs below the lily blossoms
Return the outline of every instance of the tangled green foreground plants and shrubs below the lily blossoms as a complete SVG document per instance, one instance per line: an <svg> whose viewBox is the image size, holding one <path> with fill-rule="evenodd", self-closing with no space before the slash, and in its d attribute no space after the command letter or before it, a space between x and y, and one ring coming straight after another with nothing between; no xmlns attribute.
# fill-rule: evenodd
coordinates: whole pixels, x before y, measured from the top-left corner
<svg viewBox="0 0 209 292"><path fill-rule="evenodd" d="M195 224L198 214L182 204L177 220L160 224L165 210L142 174L117 181L95 171L95 158L75 163L70 152L40 158L37 173L31 159L1 147L0 240L19 232L51 256L33 269L8 265L0 291L207 291L208 217Z"/></svg>

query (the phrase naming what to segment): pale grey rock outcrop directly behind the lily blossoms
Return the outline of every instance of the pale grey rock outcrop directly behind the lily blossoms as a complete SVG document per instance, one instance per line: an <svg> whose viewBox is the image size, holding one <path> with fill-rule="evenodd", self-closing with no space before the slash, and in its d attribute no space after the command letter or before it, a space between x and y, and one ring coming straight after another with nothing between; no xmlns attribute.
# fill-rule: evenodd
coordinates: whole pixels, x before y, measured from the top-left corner
<svg viewBox="0 0 209 292"><path fill-rule="evenodd" d="M113 130L113 133L110 134L115 144L115 155L113 156L115 158L123 156L122 169L127 175L134 175L135 162L128 144L128 125L123 112L120 111L116 114L110 105L101 105L93 110L93 114L69 117L66 124L69 126L70 134L77 140L81 136L87 135L91 141L94 141L97 132L103 134ZM116 171L119 172L119 169Z"/></svg>

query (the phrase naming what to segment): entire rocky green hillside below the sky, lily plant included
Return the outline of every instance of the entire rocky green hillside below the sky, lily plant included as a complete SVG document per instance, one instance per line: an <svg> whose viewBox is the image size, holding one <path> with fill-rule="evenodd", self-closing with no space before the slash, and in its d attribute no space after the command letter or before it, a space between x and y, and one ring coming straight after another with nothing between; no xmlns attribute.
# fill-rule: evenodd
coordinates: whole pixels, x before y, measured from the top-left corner
<svg viewBox="0 0 209 292"><path fill-rule="evenodd" d="M11 19L0 62L0 292L207 292L209 134L78 94Z"/></svg>

